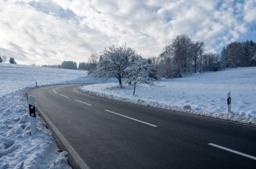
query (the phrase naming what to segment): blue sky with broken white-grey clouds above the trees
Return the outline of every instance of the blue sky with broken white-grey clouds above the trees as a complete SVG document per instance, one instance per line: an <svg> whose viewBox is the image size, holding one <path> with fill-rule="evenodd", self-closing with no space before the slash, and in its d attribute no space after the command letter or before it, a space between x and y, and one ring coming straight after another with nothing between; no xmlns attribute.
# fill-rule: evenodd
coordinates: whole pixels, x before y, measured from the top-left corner
<svg viewBox="0 0 256 169"><path fill-rule="evenodd" d="M149 57L180 34L220 52L256 41L255 16L256 0L0 0L0 54L18 64L86 62L127 44Z"/></svg>

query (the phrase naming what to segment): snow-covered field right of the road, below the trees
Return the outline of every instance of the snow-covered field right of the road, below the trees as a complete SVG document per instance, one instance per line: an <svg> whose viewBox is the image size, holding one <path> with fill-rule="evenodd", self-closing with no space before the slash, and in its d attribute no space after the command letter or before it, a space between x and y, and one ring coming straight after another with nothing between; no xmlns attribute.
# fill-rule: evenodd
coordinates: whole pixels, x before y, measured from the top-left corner
<svg viewBox="0 0 256 169"><path fill-rule="evenodd" d="M160 80L157 87L133 87L118 83L82 87L91 95L183 111L256 125L256 67L193 74L184 78ZM232 113L227 113L227 93L231 92ZM191 107L191 109L190 109Z"/></svg>

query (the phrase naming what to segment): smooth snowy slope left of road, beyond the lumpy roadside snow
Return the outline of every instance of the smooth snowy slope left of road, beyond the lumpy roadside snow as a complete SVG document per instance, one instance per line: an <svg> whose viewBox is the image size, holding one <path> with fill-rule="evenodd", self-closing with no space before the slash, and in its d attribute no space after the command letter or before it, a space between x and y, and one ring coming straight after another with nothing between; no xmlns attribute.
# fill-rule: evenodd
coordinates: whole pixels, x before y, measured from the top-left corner
<svg viewBox="0 0 256 169"><path fill-rule="evenodd" d="M57 84L87 76L86 71L0 64L0 96L12 91L38 85Z"/></svg>

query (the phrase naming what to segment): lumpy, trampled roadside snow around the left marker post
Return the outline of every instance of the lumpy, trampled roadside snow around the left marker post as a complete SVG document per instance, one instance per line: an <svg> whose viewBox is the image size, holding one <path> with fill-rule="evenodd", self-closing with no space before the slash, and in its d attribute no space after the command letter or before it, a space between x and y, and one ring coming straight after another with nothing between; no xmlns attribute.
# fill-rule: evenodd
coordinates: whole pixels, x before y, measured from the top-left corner
<svg viewBox="0 0 256 169"><path fill-rule="evenodd" d="M49 168L57 152L51 131L40 118L37 132L30 135L30 117L24 92L26 89L4 95L0 99L0 168ZM70 168L67 158L62 168Z"/></svg>

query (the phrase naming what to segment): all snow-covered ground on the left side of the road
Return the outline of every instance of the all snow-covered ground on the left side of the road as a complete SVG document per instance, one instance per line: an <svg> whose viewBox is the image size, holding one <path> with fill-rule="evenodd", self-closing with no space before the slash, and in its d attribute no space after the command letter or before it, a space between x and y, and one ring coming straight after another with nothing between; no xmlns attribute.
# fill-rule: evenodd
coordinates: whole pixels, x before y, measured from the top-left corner
<svg viewBox="0 0 256 169"><path fill-rule="evenodd" d="M93 82L86 71L0 64L0 169L70 168L66 152L58 152L51 131L37 118L30 135L30 117L24 92L35 86Z"/></svg>

